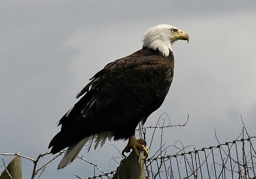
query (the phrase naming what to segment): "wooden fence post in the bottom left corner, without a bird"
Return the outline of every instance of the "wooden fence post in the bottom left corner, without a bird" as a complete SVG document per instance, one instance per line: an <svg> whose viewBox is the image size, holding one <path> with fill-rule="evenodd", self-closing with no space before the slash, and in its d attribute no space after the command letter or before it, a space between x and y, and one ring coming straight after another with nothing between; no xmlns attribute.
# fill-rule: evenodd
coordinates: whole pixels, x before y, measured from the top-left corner
<svg viewBox="0 0 256 179"><path fill-rule="evenodd" d="M10 177L11 176L11 177ZM22 179L22 158L15 156L1 173L0 179Z"/></svg>

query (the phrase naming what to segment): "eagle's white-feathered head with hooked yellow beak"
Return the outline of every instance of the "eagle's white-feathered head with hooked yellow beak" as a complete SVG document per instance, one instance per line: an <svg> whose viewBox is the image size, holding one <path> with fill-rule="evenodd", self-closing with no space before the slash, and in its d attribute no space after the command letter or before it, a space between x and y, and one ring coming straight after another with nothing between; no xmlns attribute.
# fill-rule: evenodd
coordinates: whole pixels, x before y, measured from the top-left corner
<svg viewBox="0 0 256 179"><path fill-rule="evenodd" d="M143 39L143 47L158 49L163 56L167 57L169 52L173 51L172 45L177 40L187 40L188 43L189 37L187 33L172 25L160 24L147 29Z"/></svg>

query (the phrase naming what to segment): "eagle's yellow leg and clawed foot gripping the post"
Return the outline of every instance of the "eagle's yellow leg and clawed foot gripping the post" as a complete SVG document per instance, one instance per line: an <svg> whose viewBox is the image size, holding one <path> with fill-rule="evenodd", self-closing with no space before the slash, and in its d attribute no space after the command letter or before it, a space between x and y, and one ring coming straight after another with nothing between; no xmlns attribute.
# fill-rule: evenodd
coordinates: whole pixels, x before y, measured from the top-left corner
<svg viewBox="0 0 256 179"><path fill-rule="evenodd" d="M136 156L139 157L139 151L138 148L143 151L143 156L145 159L148 156L148 148L146 147L146 141L144 139L136 139L135 136L131 136L129 138L128 144L122 151L122 155L125 157L124 152L130 152L131 149L135 152Z"/></svg>

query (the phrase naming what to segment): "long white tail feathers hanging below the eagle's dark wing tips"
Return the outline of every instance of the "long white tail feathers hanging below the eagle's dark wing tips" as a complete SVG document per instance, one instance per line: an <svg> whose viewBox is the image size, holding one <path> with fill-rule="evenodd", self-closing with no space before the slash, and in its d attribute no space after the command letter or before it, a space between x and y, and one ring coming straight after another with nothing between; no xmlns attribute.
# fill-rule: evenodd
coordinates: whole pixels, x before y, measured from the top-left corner
<svg viewBox="0 0 256 179"><path fill-rule="evenodd" d="M79 152L81 151L82 147L87 143L88 137L81 140L80 142L73 144L68 147L65 155L61 159L58 165L58 170L66 167L69 163L73 162L75 158L78 156Z"/></svg>

